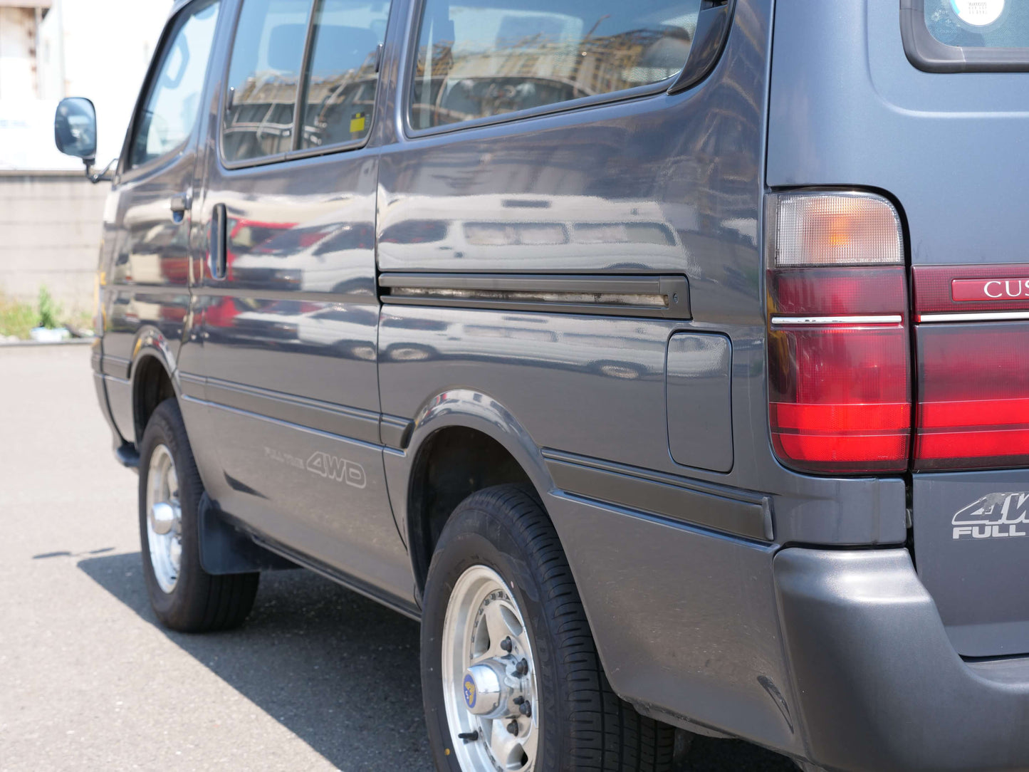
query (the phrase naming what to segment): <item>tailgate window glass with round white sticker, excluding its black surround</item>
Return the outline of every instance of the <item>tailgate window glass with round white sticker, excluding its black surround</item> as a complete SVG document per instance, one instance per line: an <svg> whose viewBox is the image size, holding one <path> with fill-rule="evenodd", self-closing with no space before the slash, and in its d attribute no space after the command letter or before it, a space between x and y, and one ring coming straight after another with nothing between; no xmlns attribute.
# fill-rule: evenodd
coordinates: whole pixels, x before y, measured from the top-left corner
<svg viewBox="0 0 1029 772"><path fill-rule="evenodd" d="M925 0L925 26L946 45L1024 48L1029 46L1029 2Z"/></svg>

